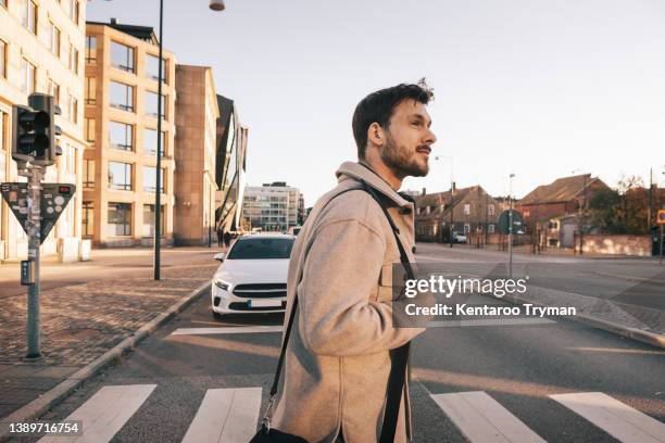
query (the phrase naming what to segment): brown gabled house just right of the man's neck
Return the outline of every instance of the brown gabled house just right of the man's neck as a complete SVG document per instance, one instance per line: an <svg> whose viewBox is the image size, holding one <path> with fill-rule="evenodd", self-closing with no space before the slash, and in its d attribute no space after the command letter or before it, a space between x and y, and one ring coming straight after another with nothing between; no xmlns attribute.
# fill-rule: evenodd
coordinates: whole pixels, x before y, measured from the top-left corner
<svg viewBox="0 0 665 443"><path fill-rule="evenodd" d="M415 235L417 241L450 241L451 212L453 232L498 230L501 205L480 186L419 195L416 201Z"/></svg>

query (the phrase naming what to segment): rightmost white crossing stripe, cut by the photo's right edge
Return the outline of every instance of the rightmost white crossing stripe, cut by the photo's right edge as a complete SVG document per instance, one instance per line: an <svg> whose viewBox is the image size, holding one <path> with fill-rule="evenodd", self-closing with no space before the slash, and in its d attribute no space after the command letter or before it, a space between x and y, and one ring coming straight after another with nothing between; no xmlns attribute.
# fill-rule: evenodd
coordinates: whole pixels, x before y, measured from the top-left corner
<svg viewBox="0 0 665 443"><path fill-rule="evenodd" d="M602 392L550 395L623 443L665 443L665 423Z"/></svg>

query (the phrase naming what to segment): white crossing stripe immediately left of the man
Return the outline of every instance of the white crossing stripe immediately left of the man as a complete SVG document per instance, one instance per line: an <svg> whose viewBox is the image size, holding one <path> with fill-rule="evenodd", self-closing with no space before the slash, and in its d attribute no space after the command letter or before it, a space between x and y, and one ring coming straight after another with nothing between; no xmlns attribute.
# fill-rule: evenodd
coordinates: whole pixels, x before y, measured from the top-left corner
<svg viewBox="0 0 665 443"><path fill-rule="evenodd" d="M183 443L247 443L261 409L261 388L209 389Z"/></svg>

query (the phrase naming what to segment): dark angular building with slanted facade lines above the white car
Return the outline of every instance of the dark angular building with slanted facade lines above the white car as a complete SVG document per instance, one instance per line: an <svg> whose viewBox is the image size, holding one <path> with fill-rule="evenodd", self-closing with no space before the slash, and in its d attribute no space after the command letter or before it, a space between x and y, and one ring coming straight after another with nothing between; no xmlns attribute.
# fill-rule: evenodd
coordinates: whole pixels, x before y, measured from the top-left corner
<svg viewBox="0 0 665 443"><path fill-rule="evenodd" d="M226 232L241 229L249 129L240 124L233 100L217 94L217 105L215 224L218 230Z"/></svg>

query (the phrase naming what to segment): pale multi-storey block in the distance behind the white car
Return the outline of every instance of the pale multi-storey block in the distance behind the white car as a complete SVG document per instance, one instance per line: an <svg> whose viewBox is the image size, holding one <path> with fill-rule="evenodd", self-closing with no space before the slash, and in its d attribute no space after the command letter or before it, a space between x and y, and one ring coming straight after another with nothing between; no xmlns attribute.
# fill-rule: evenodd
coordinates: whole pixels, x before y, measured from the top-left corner
<svg viewBox="0 0 665 443"><path fill-rule="evenodd" d="M251 229L286 231L291 226L298 226L299 198L298 188L284 181L261 187L248 186L244 189L242 218Z"/></svg>

